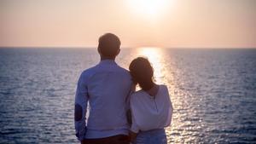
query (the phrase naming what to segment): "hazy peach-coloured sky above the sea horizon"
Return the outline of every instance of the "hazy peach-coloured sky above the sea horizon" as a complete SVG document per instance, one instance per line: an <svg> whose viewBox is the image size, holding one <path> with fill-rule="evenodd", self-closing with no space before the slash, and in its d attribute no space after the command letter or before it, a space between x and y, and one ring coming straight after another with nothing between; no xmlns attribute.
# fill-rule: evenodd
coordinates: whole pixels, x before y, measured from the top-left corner
<svg viewBox="0 0 256 144"><path fill-rule="evenodd" d="M0 46L256 48L256 0L155 1L0 0Z"/></svg>

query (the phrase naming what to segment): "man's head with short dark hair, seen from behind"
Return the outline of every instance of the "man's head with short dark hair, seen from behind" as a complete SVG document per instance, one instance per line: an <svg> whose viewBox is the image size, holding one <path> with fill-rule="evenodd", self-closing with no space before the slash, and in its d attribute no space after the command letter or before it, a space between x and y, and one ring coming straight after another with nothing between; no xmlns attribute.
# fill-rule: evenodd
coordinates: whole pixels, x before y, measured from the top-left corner
<svg viewBox="0 0 256 144"><path fill-rule="evenodd" d="M105 33L99 38L98 52L102 59L114 60L120 52L119 37L112 33Z"/></svg>

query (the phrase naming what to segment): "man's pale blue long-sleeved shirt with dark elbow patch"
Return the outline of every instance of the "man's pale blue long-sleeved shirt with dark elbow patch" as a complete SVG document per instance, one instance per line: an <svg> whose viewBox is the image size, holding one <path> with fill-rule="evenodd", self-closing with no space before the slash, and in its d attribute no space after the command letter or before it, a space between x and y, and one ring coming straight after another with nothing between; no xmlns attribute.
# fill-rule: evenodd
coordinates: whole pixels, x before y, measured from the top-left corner
<svg viewBox="0 0 256 144"><path fill-rule="evenodd" d="M82 108L80 115L76 113L81 116L76 118L75 124L79 139L126 135L128 124L125 112L130 92L131 76L114 60L102 60L85 70L79 78L76 94L76 107ZM90 107L88 123L85 124L87 101Z"/></svg>

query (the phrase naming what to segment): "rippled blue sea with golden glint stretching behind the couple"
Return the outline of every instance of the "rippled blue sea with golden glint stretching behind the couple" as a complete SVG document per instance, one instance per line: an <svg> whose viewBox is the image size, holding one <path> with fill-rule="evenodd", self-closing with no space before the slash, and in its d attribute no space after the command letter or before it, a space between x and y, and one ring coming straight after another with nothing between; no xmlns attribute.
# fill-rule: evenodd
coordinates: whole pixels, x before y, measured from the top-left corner
<svg viewBox="0 0 256 144"><path fill-rule="evenodd" d="M174 107L168 143L256 143L256 49L122 49L148 56ZM0 49L0 143L78 143L73 103L96 49Z"/></svg>

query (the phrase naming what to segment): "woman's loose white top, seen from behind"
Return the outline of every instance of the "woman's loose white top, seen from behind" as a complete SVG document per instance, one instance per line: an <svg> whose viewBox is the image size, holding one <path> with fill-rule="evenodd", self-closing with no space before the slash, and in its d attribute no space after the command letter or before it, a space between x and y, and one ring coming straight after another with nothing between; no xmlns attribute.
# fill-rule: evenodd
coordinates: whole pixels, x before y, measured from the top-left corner
<svg viewBox="0 0 256 144"><path fill-rule="evenodd" d="M144 90L131 95L131 131L163 129L172 122L172 101L166 85L153 97Z"/></svg>

